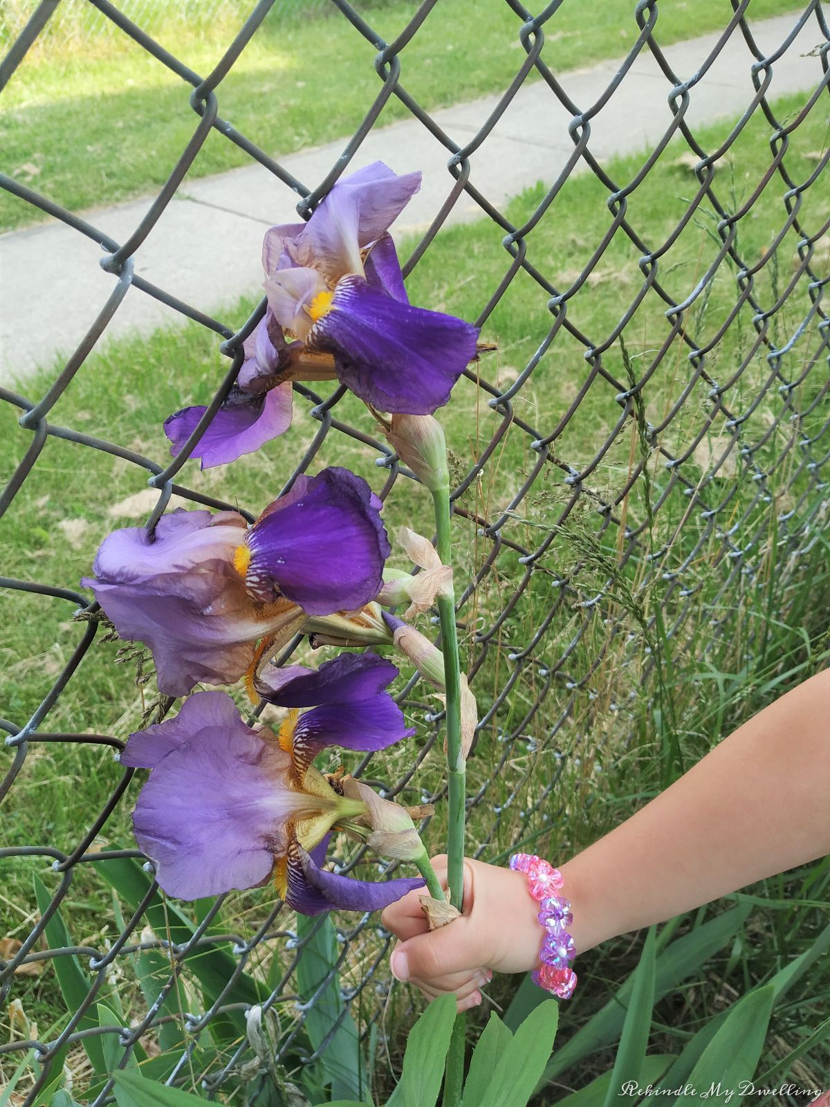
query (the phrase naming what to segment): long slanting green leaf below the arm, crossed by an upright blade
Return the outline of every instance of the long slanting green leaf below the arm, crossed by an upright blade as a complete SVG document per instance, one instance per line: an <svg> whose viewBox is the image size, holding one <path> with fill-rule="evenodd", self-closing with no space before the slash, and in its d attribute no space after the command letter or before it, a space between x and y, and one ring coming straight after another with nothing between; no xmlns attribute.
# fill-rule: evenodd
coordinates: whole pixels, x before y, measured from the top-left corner
<svg viewBox="0 0 830 1107"><path fill-rule="evenodd" d="M689 934L675 939L660 954L654 966L654 1000L662 999L681 981L691 976L733 937L751 910L748 903L710 919ZM633 987L632 976L609 1002L590 1018L566 1044L544 1069L543 1082L554 1079L575 1062L601 1049L619 1037Z"/></svg>

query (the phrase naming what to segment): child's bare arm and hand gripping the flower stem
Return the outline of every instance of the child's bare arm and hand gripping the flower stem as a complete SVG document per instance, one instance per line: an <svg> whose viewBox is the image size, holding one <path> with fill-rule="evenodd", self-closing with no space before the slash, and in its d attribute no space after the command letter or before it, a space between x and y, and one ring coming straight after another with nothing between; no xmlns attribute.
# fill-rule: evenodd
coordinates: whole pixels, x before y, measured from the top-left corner
<svg viewBox="0 0 830 1107"><path fill-rule="evenodd" d="M577 953L830 852L830 670L765 708L670 788L566 863ZM436 859L445 882L446 861ZM536 966L527 878L468 861L464 918L426 932L418 893L386 908L392 971L425 994L480 1002L488 971ZM402 958L404 954L404 958ZM577 962L579 972L579 962Z"/></svg>

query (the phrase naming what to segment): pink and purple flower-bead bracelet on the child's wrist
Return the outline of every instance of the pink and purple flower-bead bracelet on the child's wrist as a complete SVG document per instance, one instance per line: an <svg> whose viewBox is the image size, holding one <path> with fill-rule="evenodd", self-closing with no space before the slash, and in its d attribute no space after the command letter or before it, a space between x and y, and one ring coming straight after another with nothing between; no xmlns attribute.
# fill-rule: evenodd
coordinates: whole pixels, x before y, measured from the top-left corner
<svg viewBox="0 0 830 1107"><path fill-rule="evenodd" d="M510 868L527 875L528 891L541 908L539 922L544 939L539 951L541 965L531 973L532 981L560 1000L570 1000L577 986L577 974L571 969L577 948L564 929L573 922L573 913L568 900L560 896L562 873L536 853L513 853Z"/></svg>

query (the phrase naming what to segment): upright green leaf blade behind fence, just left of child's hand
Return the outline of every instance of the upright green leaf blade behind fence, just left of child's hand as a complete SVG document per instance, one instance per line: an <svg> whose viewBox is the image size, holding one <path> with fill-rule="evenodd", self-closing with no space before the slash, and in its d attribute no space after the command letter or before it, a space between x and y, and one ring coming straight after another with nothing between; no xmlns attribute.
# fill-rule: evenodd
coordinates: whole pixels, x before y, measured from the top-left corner
<svg viewBox="0 0 830 1107"><path fill-rule="evenodd" d="M343 1006L336 973L317 995L338 961L331 915L322 919L298 915L297 934L302 943L302 955L297 964L297 990L305 1003L314 1001L305 1013L305 1032L313 1049L325 1042L320 1064L331 1083L332 1096L359 1098L366 1086L365 1064L357 1027Z"/></svg>

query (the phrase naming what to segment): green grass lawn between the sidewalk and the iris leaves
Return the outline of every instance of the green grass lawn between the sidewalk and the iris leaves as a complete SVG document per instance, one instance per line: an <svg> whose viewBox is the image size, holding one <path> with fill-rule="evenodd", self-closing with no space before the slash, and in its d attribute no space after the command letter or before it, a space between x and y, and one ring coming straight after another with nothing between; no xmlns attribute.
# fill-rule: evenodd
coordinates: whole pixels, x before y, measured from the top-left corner
<svg viewBox="0 0 830 1107"><path fill-rule="evenodd" d="M391 18L393 10L378 11L378 18ZM601 41L599 35L596 41ZM796 102L791 101L776 110L784 117L795 108ZM724 133L724 126L717 125L702 131L701 141L714 148ZM767 124L755 118L722 158L716 179L727 209L740 208L767 167ZM803 180L810 175L816 152L824 147L827 138L827 114L813 111L796 132L787 155L793 179ZM670 149L630 201L631 221L653 245L668 237L696 187L696 178L681 153L679 147ZM621 159L610 173L620 183L630 180L640 162L637 157ZM738 250L750 263L764 256L782 224L784 192L784 185L775 179L753 207L750 217L740 223ZM510 217L520 221L541 196L539 188L517 197ZM602 239L610 219L605 201L606 193L595 179L573 179L530 236L529 259L558 289L564 291L573 284ZM830 196L812 189L802 206L803 226L815 231L829 214ZM715 256L715 221L714 214L702 207L662 259L662 280L675 297L688 294ZM407 282L413 301L475 319L508 266L501 237L502 232L486 220L442 232ZM755 292L761 304L771 304L792 276L796 242L797 237L790 232L774 261L756 276ZM625 382L629 371L636 376L646 372L668 332L665 304L654 292L645 296L626 324L627 370L619 342L609 342L641 287L639 254L627 239L616 235L591 278L569 301L568 319L573 330L558 332L512 402L517 418L528 423L533 434L512 423L479 479L461 499L466 510L492 521L509 508L538 462L530 446L536 433L551 433L588 382L585 343L594 349L608 345L602 363L616 381ZM826 276L829 262L827 245L818 244L817 272ZM737 298L734 272L726 266L722 270L710 293L699 298L687 315L688 332L699 346L717 334ZM802 286L803 281L799 282L776 313L772 333L779 348L796 334L806 314L809 299ZM502 387L516 380L551 327L547 300L547 293L526 275L513 280L484 327L484 338L498 343L498 353L481 363L485 379ZM251 307L240 303L225 321L238 325ZM798 446L801 437L817 435L811 456L820 461L827 452L827 426L821 437L826 402L810 411L826 381L821 363L811 361L818 333L811 324L798 335L781 358L780 377L770 382L766 351L761 348L753 354L751 315L745 304L707 355L706 369L718 384L728 384L730 410L746 414L740 445L757 447L755 463L765 474L762 495L758 495L756 472L744 469L737 451L709 478L730 435L723 417L692 449L710 410L710 385L701 381L685 399L679 414L657 431L662 448L675 457L688 455L679 466L682 478L705 487L705 504L723 505L715 525L699 509L689 514L683 483L676 479L677 469L666 468L665 456L658 452L644 453L635 422L629 420L618 427L618 387L600 375L587 385L575 415L551 446L556 459L582 469L613 437L585 480L587 495L566 518L564 509L573 492L564 480L566 470L556 463L543 465L533 488L517 504L501 530L502 537L533 550L551 529L559 528L557 539L539 558L515 604L511 600L527 573L517 554L502 547L495 568L486 571L491 552L488 539L468 519L457 516L454 520L457 579L464 587L474 575L481 573L480 586L460 617L465 655L468 664L478 668L474 687L479 714L484 716L496 695L509 686L507 699L480 735L468 770L470 795L477 797L469 813L470 849L480 844L485 859L502 858L517 839L538 842L539 851L552 856L581 848L660 790L667 739L677 741L683 764L688 767L734 726L827 663L830 558L822 524L827 492L805 468ZM649 376L643 387L643 422L661 428L681 399L688 382L687 352L675 340ZM743 371L736 374L739 365ZM87 360L50 418L55 425L101 435L164 463L162 421L183 404L206 402L221 373L222 359L215 335L195 325L118 341ZM28 394L38 399L50 380L46 372L31 381ZM789 410L782 408L785 401L777 386L780 380L800 380L792 394L792 410L805 414L797 424L789 421ZM760 402L754 404L758 397ZM463 381L442 413L459 473L481 456L502 422L488 407L487 399L471 382ZM199 473L196 463L190 462L179 476L180 483L260 510L279 492L318 426L310 407L298 396L294 426L283 438L228 468ZM353 397L341 401L334 414L364 434L373 433L372 420ZM0 411L0 441L7 444L0 461L0 480L8 478L31 443L31 433L21 430L15 417L9 406ZM796 431L797 441L790 448ZM322 443L312 472L326 464L345 464L380 489L383 474L374 465L376 456L372 446L333 430ZM641 478L622 497L633 467L643 461L647 462L651 487ZM4 519L0 548L4 572L77 588L103 536L116 526L139 525L146 516L153 498L148 503L145 492L146 473L136 466L50 437ZM627 538L615 524L604 529L605 517L598 510L598 505L609 501L619 501L614 514L618 518L625 516L629 530L643 528L641 545L623 559L622 569L616 566ZM792 513L789 523L779 523L779 517L788 513ZM385 515L391 529L406 521L430 531L426 497L403 479L390 494ZM779 546L779 540L782 542L787 534L797 535L809 519L813 520L813 532L809 541L803 541L800 557L792 555L789 547ZM673 538L681 524L679 535ZM733 545L744 549L739 562L725 556L722 539L727 530L733 535ZM658 561L660 571L655 572L656 562L646 555L666 546ZM675 573L679 575L682 588L673 579ZM564 578L571 578L567 589L560 586ZM603 598L594 602L600 592ZM72 621L74 604L63 600L7 593L4 606L7 642L0 650L6 685L2 714L22 724L66 664L82 628ZM506 609L508 613L501 618ZM546 619L551 610L556 613L548 625ZM644 622L647 624L657 614L657 622L644 631ZM425 617L422 619L428 629ZM118 662L118 643L104 642L102 637L50 713L45 724L49 731L90 731L123 738L139 725L142 712L154 695L153 682L136 686L134 666ZM531 641L536 642L535 649L523 660L522 652ZM661 668L665 685L660 696L653 680L654 662ZM416 690L415 699L407 704L418 726L414 739L418 746L432 733L426 718L427 699ZM655 702L658 712L654 711ZM412 747L393 749L383 761L376 758L370 773L394 780L412 767ZM120 776L108 748L34 743L7 803L7 844L49 842L71 849ZM427 756L413 775L405 797L419 801L423 794L436 787L440 776L440 758ZM556 784L551 793L552 782ZM133 786L104 828L102 842L129 844L128 816L135 795ZM428 830L434 848L443 841L444 829L439 807ZM55 875L43 859L4 862L0 934L13 938L28 932L37 910L31 892L33 872L50 889L56 887ZM826 899L829 887L830 870L827 865L816 865L751 889L765 898L766 906L754 909L732 949L722 951L707 963L705 972L687 982L688 986L658 1004L652 1051L677 1052L719 1005L732 1002L767 973L809 949L823 924L821 912L810 904ZM715 904L714 911L725 906ZM268 893L229 897L222 908L226 932L251 934L267 908ZM100 948L118 933L112 891L90 866L77 867L62 911L79 945ZM706 911L689 917L683 927L694 927L704 917ZM584 958L581 977L587 983L581 999L574 1001L567 1015L563 1012L563 1038L605 1002L636 963L639 949L639 942L632 944L630 938L624 938ZM374 932L364 931L347 959L347 981L360 976L376 950ZM282 955L279 943L263 951L253 966L255 974L263 981L272 979L273 965L280 965ZM142 1011L129 966L121 972L126 1006ZM190 982L188 986L194 985ZM496 999L509 997L510 987L509 981L499 982ZM799 983L788 993L787 1003L776 1008L766 1067L815 1030L820 1021L821 997L829 990L830 965L823 959L815 965L809 984ZM62 1010L51 968L39 977L21 977L18 996L28 1016L40 1024L41 1033ZM199 1002L194 1000L196 1005ZM394 1026L396 1020L405 1022L406 1006L406 996L395 993L387 1026ZM290 1005L286 1005L283 1015L291 1018ZM9 1033L10 1027L0 1024L0 1034L8 1038ZM397 1039L392 1043L393 1056L400 1045ZM827 1069L828 1056L822 1048L800 1058L802 1073L812 1072L815 1076ZM600 1051L578 1069L569 1070L568 1086L581 1086L603 1072L610 1066L609 1056L608 1051ZM382 1087L387 1079L385 1072L385 1062L378 1059ZM799 1078L809 1084L807 1076ZM558 1096L558 1092L551 1092L552 1098L547 1101L556 1101Z"/></svg>

